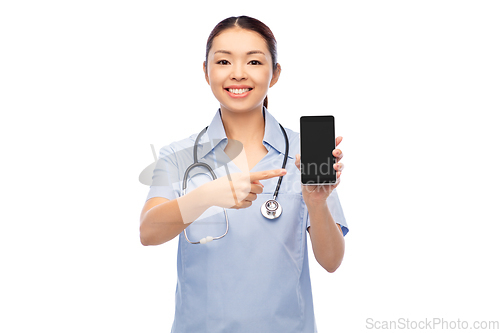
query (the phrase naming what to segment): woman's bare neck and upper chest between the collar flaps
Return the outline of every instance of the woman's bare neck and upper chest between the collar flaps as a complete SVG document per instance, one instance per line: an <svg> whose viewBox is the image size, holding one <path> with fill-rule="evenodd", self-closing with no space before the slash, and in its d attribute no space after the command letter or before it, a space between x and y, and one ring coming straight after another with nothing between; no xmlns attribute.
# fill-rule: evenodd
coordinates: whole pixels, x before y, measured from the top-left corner
<svg viewBox="0 0 500 333"><path fill-rule="evenodd" d="M221 106L221 119L228 139L243 145L262 144L265 132L262 105L244 112L229 111Z"/></svg>

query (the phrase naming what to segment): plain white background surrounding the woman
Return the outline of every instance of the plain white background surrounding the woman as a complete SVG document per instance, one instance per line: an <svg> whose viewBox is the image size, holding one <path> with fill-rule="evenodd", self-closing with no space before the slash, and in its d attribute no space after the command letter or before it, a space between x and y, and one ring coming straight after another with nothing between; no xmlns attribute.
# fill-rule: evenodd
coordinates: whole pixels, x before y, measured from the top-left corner
<svg viewBox="0 0 500 333"><path fill-rule="evenodd" d="M141 245L138 176L211 121L205 43L233 15L277 38L278 121L344 137L344 261L309 248L319 332L500 320L497 1L180 3L0 5L1 331L170 331L177 239Z"/></svg>

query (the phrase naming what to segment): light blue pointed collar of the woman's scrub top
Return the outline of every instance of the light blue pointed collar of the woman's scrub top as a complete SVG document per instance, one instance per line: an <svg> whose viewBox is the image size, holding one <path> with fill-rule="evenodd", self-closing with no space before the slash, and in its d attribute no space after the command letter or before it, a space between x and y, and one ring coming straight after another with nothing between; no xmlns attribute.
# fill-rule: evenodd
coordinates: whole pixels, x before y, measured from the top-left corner
<svg viewBox="0 0 500 333"><path fill-rule="evenodd" d="M280 152L281 154L285 154L286 143L285 136L283 135L283 131L278 123L278 121L269 113L265 106L262 107L262 114L264 116L265 128L264 128L264 138L262 143L267 143L275 150ZM290 134L287 133L288 140L290 140ZM224 125L222 124L221 118L221 110L218 109L217 113L212 119L212 122L208 126L208 130L203 136L200 138L200 156L198 159L204 158L208 153L214 150L221 142L227 144L227 135L226 130L224 129ZM205 142L202 144L202 142ZM288 157L294 158L291 155L291 149L288 149Z"/></svg>

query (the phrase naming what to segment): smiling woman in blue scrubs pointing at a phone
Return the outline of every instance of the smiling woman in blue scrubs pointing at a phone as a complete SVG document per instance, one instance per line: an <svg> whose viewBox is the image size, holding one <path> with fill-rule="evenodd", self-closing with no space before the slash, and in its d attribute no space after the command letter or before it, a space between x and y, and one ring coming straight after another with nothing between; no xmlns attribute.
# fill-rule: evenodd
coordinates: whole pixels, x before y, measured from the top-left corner
<svg viewBox="0 0 500 333"><path fill-rule="evenodd" d="M276 54L276 40L262 22L247 16L221 21L203 63L220 109L196 148L197 160L212 166L217 179L194 167L181 195L198 133L160 150L140 232L144 245L179 236L172 332L316 332L306 231L316 260L333 272L348 228L338 181L303 186L299 133L284 129L285 136L267 110L268 89L281 72ZM339 179L342 152L332 154ZM295 166L280 168L294 157ZM270 220L261 206L273 198L280 177L282 213ZM220 207L230 208L229 223ZM199 244L203 238L208 242Z"/></svg>

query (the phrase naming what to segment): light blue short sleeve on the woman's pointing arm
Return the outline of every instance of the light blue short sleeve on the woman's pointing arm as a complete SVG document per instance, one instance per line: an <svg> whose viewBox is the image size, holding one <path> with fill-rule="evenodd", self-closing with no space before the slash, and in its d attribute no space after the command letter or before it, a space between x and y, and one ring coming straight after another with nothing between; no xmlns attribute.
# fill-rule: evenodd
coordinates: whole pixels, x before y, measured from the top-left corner
<svg viewBox="0 0 500 333"><path fill-rule="evenodd" d="M179 178L175 152L168 145L160 149L159 155L146 201L153 197L162 197L169 200L174 200L178 197L175 192L175 184L178 183Z"/></svg>

